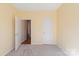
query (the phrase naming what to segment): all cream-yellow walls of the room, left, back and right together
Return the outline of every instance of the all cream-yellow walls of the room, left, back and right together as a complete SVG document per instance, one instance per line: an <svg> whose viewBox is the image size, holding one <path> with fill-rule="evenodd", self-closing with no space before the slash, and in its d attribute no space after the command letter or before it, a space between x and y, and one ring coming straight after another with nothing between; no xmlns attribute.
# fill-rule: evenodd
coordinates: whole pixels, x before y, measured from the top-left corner
<svg viewBox="0 0 79 59"><path fill-rule="evenodd" d="M79 55L79 4L64 4L57 12L16 11L11 4L0 4L0 55L14 48L15 16L32 20L32 44L42 44L42 20L44 17L52 18L52 43L57 41L57 45L65 51Z"/></svg>

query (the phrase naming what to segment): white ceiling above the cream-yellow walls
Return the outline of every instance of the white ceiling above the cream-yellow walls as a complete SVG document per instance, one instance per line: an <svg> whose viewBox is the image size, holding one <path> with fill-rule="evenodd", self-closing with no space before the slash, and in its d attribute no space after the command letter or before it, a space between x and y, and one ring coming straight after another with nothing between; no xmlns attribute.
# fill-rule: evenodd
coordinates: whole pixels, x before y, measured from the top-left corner
<svg viewBox="0 0 79 59"><path fill-rule="evenodd" d="M57 10L62 4L61 3L14 3L17 9L23 11L51 11Z"/></svg>

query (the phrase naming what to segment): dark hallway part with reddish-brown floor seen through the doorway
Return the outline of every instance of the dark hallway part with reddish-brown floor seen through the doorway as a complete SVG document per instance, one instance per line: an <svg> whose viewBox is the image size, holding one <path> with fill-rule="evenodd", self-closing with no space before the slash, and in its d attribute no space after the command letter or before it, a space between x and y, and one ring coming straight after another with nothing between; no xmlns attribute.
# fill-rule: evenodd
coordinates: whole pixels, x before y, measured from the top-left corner
<svg viewBox="0 0 79 59"><path fill-rule="evenodd" d="M31 20L27 21L27 39L22 44L31 44Z"/></svg>

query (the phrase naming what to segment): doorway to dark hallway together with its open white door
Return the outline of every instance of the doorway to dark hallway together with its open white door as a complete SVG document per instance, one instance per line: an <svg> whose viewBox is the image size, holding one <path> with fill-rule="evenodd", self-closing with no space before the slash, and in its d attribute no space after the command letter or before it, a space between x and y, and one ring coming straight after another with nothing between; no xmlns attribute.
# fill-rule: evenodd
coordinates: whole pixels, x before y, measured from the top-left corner
<svg viewBox="0 0 79 59"><path fill-rule="evenodd" d="M31 20L15 17L15 50L21 44L31 44Z"/></svg>

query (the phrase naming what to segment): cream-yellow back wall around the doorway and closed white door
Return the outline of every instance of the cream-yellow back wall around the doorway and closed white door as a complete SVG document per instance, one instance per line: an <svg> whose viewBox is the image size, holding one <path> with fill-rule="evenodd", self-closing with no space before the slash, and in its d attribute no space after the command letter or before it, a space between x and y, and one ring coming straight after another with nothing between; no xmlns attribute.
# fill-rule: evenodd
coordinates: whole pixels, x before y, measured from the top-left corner
<svg viewBox="0 0 79 59"><path fill-rule="evenodd" d="M16 16L21 17L23 20L31 19L31 34L32 34L32 44L43 44L42 40L42 24L45 17L52 19L53 23L53 40L52 44L56 43L57 35L57 13L56 11L17 11Z"/></svg>

